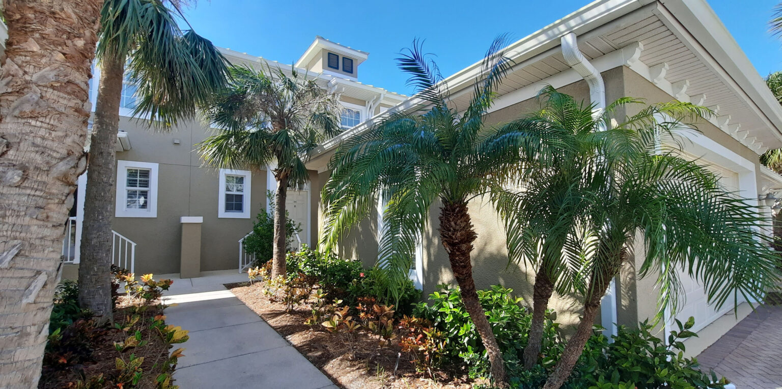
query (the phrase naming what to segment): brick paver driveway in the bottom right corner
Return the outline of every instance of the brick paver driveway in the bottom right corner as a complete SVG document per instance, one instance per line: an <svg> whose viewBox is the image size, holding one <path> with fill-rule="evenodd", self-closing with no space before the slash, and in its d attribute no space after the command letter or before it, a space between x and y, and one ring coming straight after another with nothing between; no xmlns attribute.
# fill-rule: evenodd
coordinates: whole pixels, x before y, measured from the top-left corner
<svg viewBox="0 0 782 389"><path fill-rule="evenodd" d="M762 305L698 355L738 389L782 388L782 306Z"/></svg>

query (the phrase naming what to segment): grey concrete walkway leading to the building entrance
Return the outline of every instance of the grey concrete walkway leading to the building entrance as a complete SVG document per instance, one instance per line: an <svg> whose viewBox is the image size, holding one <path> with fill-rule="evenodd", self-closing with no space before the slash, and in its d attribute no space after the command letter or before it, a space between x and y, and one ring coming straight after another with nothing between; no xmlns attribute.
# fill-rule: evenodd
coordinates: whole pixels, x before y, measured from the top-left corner
<svg viewBox="0 0 782 389"><path fill-rule="evenodd" d="M174 280L163 296L167 304L177 304L166 309L166 322L190 331L190 340L181 344L185 357L174 373L182 389L337 389L223 286L246 281L246 274L227 270L203 272L199 278L158 277Z"/></svg>

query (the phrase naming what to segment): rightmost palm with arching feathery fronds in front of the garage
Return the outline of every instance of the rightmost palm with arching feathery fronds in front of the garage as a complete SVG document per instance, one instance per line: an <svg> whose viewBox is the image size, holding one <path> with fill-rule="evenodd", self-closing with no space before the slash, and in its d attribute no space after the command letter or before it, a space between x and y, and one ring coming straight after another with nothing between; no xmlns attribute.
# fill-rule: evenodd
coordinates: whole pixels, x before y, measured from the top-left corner
<svg viewBox="0 0 782 389"><path fill-rule="evenodd" d="M639 102L626 99L613 106L635 104ZM560 111L587 123L591 107L576 109L571 101ZM608 284L631 259L637 234L644 237L646 250L637 253L644 255L640 277L657 275L657 319L666 309L677 311L677 269L704 285L708 302L718 308L729 299L737 305L740 297L759 301L779 280L769 238L758 228L765 220L757 207L726 191L719 177L683 159L675 146L662 146L677 145L676 134L689 128L682 123L708 116L707 109L682 102L651 105L615 125L611 113L608 109L587 126L603 138L592 157L594 169L603 173L594 175L602 182L590 186L594 193L579 219L584 233L574 239L581 246L576 251L587 253L570 270L586 280L583 317L544 389L561 387L569 377L592 334ZM597 132L601 127L608 130Z"/></svg>

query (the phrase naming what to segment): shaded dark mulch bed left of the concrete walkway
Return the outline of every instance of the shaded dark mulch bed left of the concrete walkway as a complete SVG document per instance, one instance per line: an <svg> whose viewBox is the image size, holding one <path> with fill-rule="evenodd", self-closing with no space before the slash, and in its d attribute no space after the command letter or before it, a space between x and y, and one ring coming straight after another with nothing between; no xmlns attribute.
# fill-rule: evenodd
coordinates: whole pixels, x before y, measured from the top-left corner
<svg viewBox="0 0 782 389"><path fill-rule="evenodd" d="M156 377L160 373L160 365L169 355L167 344L163 343L160 336L150 328L150 319L157 315L163 315L163 309L159 304L160 302L151 302L150 305L145 305L142 309L136 309L127 297L121 296L117 300L117 307L114 310L114 323L127 323L128 316L135 314L141 316L138 322L127 333L114 327L95 328L93 330L95 337L92 339L92 344L88 346L93 349L90 361L64 368L44 366L38 388L74 387L77 380L88 380L99 374L102 374L106 379L106 384L103 387L113 387L109 385L109 382L111 378L117 376L116 359L120 356L120 353L114 348L114 342L124 341L130 334L135 334L135 330L139 330L142 333L142 339L147 341L147 344L132 348L124 352L122 356L126 360L131 354L144 357L144 362L141 365L144 375L135 387L154 389Z"/></svg>

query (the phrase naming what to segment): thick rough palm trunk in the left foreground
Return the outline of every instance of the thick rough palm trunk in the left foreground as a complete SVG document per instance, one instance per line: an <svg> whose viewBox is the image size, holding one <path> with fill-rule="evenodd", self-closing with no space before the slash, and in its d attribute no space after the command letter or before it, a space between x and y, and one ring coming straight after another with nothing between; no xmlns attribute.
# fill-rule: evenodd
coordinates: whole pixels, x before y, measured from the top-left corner
<svg viewBox="0 0 782 389"><path fill-rule="evenodd" d="M5 0L0 70L0 387L34 388L84 171L99 0Z"/></svg>

